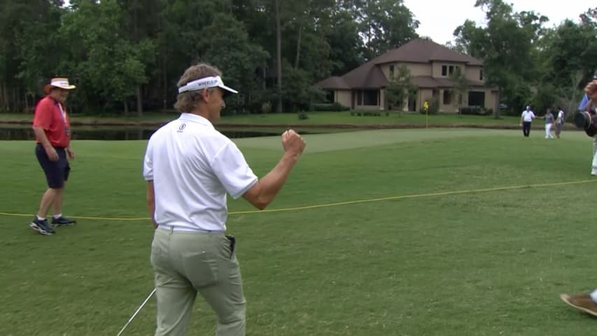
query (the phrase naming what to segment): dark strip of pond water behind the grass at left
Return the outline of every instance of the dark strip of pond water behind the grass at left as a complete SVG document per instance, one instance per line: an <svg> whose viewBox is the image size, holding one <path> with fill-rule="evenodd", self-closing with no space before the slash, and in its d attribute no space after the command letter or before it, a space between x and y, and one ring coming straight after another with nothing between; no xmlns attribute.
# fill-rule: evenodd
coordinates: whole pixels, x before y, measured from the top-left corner
<svg viewBox="0 0 597 336"><path fill-rule="evenodd" d="M146 140L156 128L114 128L114 127L80 127L74 128L73 140ZM220 130L229 138L267 137L279 135L281 132L250 132L244 130ZM0 140L33 140L31 127L2 127Z"/></svg>

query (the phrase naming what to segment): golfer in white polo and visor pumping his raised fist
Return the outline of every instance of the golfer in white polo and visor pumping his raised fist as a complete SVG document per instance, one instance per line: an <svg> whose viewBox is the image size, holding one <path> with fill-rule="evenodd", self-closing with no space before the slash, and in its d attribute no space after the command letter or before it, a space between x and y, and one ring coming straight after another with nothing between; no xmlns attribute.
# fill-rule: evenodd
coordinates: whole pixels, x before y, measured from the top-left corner
<svg viewBox="0 0 597 336"><path fill-rule="evenodd" d="M265 209L299 160L305 143L293 130L281 136L278 164L258 179L239 148L213 128L225 107L218 69L190 66L178 80L180 118L149 139L143 176L155 225L155 335L185 335L197 293L217 316L216 335L245 335L245 298L234 238L225 235L226 194Z"/></svg>

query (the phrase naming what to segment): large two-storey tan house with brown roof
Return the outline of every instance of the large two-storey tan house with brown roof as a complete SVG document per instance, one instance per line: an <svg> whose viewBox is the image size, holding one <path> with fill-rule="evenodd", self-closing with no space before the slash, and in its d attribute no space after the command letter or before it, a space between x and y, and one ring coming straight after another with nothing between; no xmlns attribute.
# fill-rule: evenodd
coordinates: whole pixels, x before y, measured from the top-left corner
<svg viewBox="0 0 597 336"><path fill-rule="evenodd" d="M385 89L398 66L406 66L417 87L408 102L391 106ZM456 68L466 78L467 90L456 96L456 81L451 74ZM338 102L351 109L402 109L419 111L423 102L435 97L440 112L454 112L458 106L481 106L496 109L498 88L485 85L483 64L479 59L444 47L433 41L416 39L400 48L371 59L344 76L326 78L316 87L328 92L330 102ZM458 100L455 100L458 99Z"/></svg>

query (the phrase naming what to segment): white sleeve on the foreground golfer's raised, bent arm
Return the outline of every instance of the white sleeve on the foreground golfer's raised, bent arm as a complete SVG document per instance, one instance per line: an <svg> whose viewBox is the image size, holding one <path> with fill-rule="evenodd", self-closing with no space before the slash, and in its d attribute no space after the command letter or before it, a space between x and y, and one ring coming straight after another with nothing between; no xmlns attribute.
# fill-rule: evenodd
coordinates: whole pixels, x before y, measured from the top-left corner
<svg viewBox="0 0 597 336"><path fill-rule="evenodd" d="M211 169L234 200L241 197L258 181L251 167L248 167L243 154L232 141L227 142L216 153L211 161Z"/></svg>

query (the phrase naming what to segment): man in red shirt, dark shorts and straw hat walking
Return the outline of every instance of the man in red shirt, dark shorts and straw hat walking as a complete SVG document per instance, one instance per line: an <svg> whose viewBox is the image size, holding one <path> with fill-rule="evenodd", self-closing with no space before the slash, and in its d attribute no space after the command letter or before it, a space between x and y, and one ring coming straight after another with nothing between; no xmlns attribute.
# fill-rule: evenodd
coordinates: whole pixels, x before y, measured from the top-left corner
<svg viewBox="0 0 597 336"><path fill-rule="evenodd" d="M75 153L71 149L71 127L69 116L66 115L64 101L69 95L69 90L75 85L69 85L66 78L52 78L50 84L45 85L46 96L35 107L33 119L33 132L36 139L35 155L43 169L45 179L48 181L48 190L45 190L39 209L33 221L29 223L31 229L41 235L55 233L52 227L73 225L75 221L62 216L62 197L64 183L69 179L68 158L73 160ZM52 224L48 225L45 216L52 207Z"/></svg>

